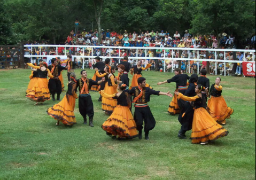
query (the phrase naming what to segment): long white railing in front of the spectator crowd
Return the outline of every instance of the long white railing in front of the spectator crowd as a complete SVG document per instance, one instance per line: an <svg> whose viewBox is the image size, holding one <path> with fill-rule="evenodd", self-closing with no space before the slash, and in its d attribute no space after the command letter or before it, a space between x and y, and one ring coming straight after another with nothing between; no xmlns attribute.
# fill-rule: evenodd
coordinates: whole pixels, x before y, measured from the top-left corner
<svg viewBox="0 0 256 180"><path fill-rule="evenodd" d="M255 50L238 50L238 49L193 49L193 48L151 48L151 47L148 47L148 48L145 48L145 47L123 47L123 46L83 46L83 45L24 45L24 47L28 47L28 48L37 48L39 51L40 51L40 54L42 53L42 49L51 49L51 48L56 48L56 54L58 54L58 48L64 48L64 52L65 52L65 55L54 55L54 56L51 56L51 55L25 55L25 57L27 58L56 58L56 57L60 57L61 59L66 59L66 50L67 48L72 48L73 50L75 48L80 48L80 49L83 49L83 53L81 54L81 56L76 56L76 55L72 55L73 58L89 58L90 61L92 62L92 64L94 63L94 58L95 58L95 54L94 54L94 50L96 49L108 49L109 52L111 52L112 49L116 49L118 50L119 49L119 52L121 52L121 50L124 50L124 49L128 49L128 50L132 50L132 49L135 49L136 50L136 57L129 57L130 59L136 59L138 61L138 59L142 60L142 59L152 59L152 60L171 60L172 61L172 65L174 66L174 60L186 60L186 61L197 61L197 71L198 71L198 74L199 74L199 62L201 61L211 61L211 62L215 62L215 68L218 67L218 62L230 62L230 63L241 63L241 61L239 60L226 60L227 57L226 57L226 52L242 52L244 54L244 59L243 61L246 61L246 57L245 57L245 54L248 53L248 52L253 52L255 53L256 51ZM90 50L89 52L89 56L86 56L84 54L84 51L85 50ZM92 51L91 51L92 50ZM164 57L139 57L138 56L138 50L145 50L145 56L146 54L148 53L149 50L164 50ZM168 50L169 52L172 52L170 55L171 55L171 58L168 58L166 57L166 50ZM174 56L176 56L173 52L175 51L184 51L184 50L187 50L188 51L188 58L176 58ZM211 53L214 53L214 56L215 56L215 59L191 59L190 58L190 52L193 51L193 52L197 52L197 57L199 57L199 52L200 51L208 51L208 52L211 52ZM223 52L223 59L218 59L218 52ZM47 52L48 53L48 52ZM236 56L236 54L233 54L233 56ZM103 56L100 56L100 58L110 58L110 59L118 59L119 63L120 63L120 60L123 59L123 57L120 56L120 53L119 53L119 56L117 57L103 57ZM254 59L254 55L253 55L253 62L255 61ZM83 65L82 67L84 68L84 61L83 61ZM188 63L188 68L189 68L189 73L190 73L190 63ZM224 69L226 69L226 63L224 63ZM166 63L164 63L164 72L166 72ZM172 72L173 72L173 68L172 68ZM215 69L215 74L217 75L218 71L217 69ZM224 71L224 75L226 76L226 71Z"/></svg>

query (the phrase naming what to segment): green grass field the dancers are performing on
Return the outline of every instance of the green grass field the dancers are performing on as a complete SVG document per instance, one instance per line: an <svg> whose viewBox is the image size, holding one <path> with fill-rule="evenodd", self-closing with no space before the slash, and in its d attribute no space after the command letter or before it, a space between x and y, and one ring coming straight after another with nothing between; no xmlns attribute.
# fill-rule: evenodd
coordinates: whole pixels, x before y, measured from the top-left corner
<svg viewBox="0 0 256 180"><path fill-rule="evenodd" d="M80 71L75 71L79 76ZM88 72L92 77L93 71ZM54 103L33 106L26 99L29 69L0 71L0 179L255 179L255 79L222 77L223 96L235 114L225 127L228 137L207 146L180 140L177 116L167 109L172 100L152 96L150 107L157 126L150 140L119 142L101 129L108 118L91 92L95 105L95 127L83 125L78 101L73 128L56 127L46 114ZM172 91L175 84L157 87L171 73L144 72L156 90ZM64 72L65 84L67 83ZM211 84L215 76L209 76ZM131 76L130 76L131 79ZM64 97L64 93L61 98ZM189 134L188 134L189 135Z"/></svg>

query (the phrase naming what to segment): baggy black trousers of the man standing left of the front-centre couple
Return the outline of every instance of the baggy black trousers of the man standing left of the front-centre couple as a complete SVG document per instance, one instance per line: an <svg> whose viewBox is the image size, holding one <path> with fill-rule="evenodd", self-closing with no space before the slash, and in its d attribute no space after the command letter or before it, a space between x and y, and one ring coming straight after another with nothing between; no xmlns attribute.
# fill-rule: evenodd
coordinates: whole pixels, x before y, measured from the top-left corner
<svg viewBox="0 0 256 180"><path fill-rule="evenodd" d="M90 95L86 97L79 96L79 112L84 119L87 115L89 119L94 118L94 103L92 103Z"/></svg>

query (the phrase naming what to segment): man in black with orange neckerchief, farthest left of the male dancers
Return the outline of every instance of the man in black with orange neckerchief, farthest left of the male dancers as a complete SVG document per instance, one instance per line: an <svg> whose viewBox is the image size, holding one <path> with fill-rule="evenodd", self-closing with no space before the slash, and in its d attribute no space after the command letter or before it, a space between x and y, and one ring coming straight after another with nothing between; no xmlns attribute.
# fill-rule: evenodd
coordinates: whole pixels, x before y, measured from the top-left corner
<svg viewBox="0 0 256 180"><path fill-rule="evenodd" d="M60 100L60 94L62 92L61 82L59 80L60 72L63 70L67 70L68 67L62 67L58 65L58 61L56 58L51 60L51 66L48 66L48 69L51 71L53 77L49 80L49 90L52 95L52 100L56 101L55 95L57 93L57 100Z"/></svg>

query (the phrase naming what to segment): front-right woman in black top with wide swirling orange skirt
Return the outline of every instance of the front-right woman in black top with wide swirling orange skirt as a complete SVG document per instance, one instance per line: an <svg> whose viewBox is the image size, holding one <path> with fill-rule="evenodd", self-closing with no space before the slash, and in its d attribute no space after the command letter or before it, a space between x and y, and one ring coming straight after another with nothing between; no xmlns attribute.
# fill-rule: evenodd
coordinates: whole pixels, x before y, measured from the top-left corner
<svg viewBox="0 0 256 180"><path fill-rule="evenodd" d="M201 91L205 90L202 85L197 85L195 91L197 96L187 97L182 93L175 92L179 99L192 101L191 105L195 108L193 115L193 126L191 139L193 144L200 143L201 145L208 144L211 140L216 140L228 135L228 131L212 118L206 109L206 101L202 98Z"/></svg>

